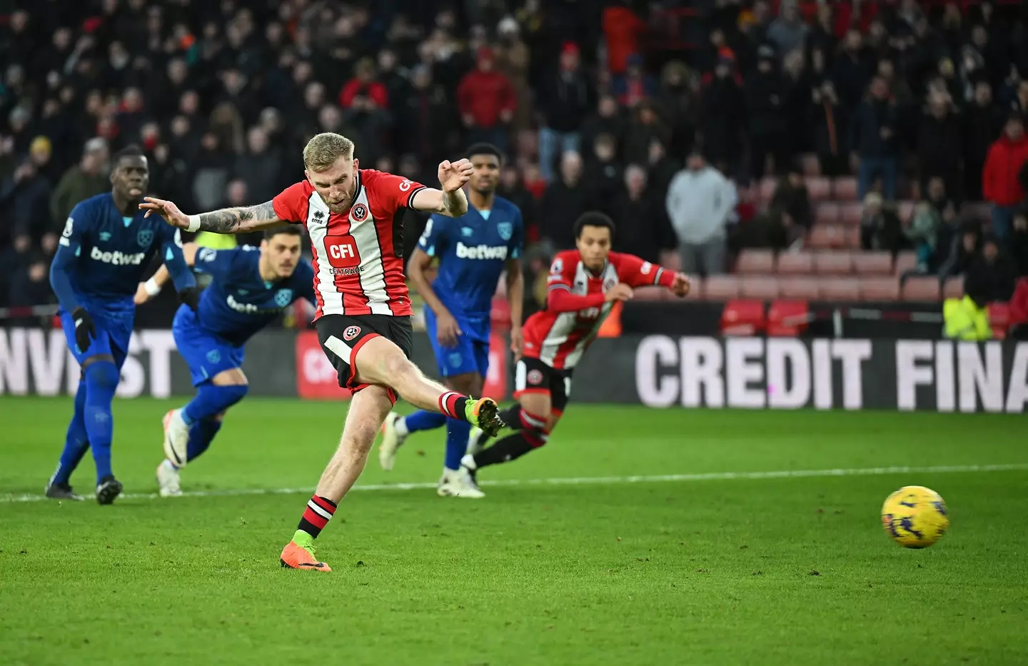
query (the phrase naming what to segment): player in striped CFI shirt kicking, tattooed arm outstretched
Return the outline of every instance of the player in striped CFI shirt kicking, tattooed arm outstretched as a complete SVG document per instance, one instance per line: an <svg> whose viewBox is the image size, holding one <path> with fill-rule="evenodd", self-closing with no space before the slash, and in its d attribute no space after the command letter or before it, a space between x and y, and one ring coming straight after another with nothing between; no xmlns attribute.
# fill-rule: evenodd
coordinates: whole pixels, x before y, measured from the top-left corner
<svg viewBox="0 0 1028 666"><path fill-rule="evenodd" d="M353 142L325 133L307 143L303 164L306 180L259 206L185 215L172 201L148 196L140 208L188 231L242 233L286 222L306 225L314 253L318 338L338 372L339 385L351 388L354 398L339 448L281 559L283 566L330 571L315 557L314 541L364 470L397 393L415 407L468 420L491 435L503 423L493 401L447 391L409 360L411 308L403 278L403 209L449 217L467 213L468 199L461 188L471 178L471 162L440 163L442 189L433 189L400 176L359 169ZM184 449L185 442L180 445Z"/></svg>

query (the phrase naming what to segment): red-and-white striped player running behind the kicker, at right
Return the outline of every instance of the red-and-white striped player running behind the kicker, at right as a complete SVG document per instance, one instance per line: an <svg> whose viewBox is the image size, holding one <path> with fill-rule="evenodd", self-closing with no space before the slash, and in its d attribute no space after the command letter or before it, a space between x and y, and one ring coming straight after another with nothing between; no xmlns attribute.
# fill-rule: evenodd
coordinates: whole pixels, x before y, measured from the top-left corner
<svg viewBox="0 0 1028 666"><path fill-rule="evenodd" d="M632 297L634 287L660 285L676 296L689 293L689 278L638 257L611 252L614 222L602 213L586 213L575 222L577 250L557 253L550 265L546 309L524 323L524 356L515 372L520 404L500 417L512 433L482 448L488 433L472 435L471 453L461 464L472 474L507 462L546 444L567 405L572 373L592 342L614 301Z"/></svg>

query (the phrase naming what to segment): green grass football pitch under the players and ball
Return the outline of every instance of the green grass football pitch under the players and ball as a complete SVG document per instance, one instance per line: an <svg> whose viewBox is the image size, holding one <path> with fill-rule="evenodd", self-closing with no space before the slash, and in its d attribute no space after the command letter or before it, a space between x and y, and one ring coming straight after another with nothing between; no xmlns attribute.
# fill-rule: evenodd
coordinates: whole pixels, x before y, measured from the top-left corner
<svg viewBox="0 0 1028 666"><path fill-rule="evenodd" d="M156 490L175 403L115 405L115 472ZM1009 465L932 472L354 492L321 542L331 575L280 569L344 405L248 399L160 501L39 494L68 400L0 400L0 663L1028 663L1022 416L651 411L573 405L542 451L483 481ZM363 484L432 482L441 431ZM87 457L73 483L87 491ZM949 504L935 547L882 532L882 501Z"/></svg>

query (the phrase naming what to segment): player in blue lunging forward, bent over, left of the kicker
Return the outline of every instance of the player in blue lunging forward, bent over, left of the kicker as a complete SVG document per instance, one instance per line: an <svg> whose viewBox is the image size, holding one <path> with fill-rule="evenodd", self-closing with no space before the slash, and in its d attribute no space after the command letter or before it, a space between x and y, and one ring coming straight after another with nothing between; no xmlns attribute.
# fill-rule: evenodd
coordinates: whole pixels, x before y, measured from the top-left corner
<svg viewBox="0 0 1028 666"><path fill-rule="evenodd" d="M160 496L182 494L179 471L211 445L225 410L247 395L243 345L294 301L315 303L315 273L300 258L301 229L282 226L264 232L260 250L213 250L187 243L185 260L214 280L196 311L180 307L172 333L196 386L196 397L164 416L166 459L157 466ZM136 302L146 302L168 282L161 267L139 286Z"/></svg>

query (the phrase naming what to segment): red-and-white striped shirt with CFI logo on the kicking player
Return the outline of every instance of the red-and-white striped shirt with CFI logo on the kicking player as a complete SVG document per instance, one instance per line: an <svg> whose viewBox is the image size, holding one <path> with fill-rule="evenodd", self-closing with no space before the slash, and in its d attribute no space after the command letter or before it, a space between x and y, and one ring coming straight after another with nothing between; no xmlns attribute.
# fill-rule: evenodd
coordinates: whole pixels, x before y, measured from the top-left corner
<svg viewBox="0 0 1028 666"><path fill-rule="evenodd" d="M308 181L271 199L280 220L304 224L314 253L315 294L324 314L411 314L403 276L403 209L425 186L372 169L357 172L354 203L332 213Z"/></svg>

